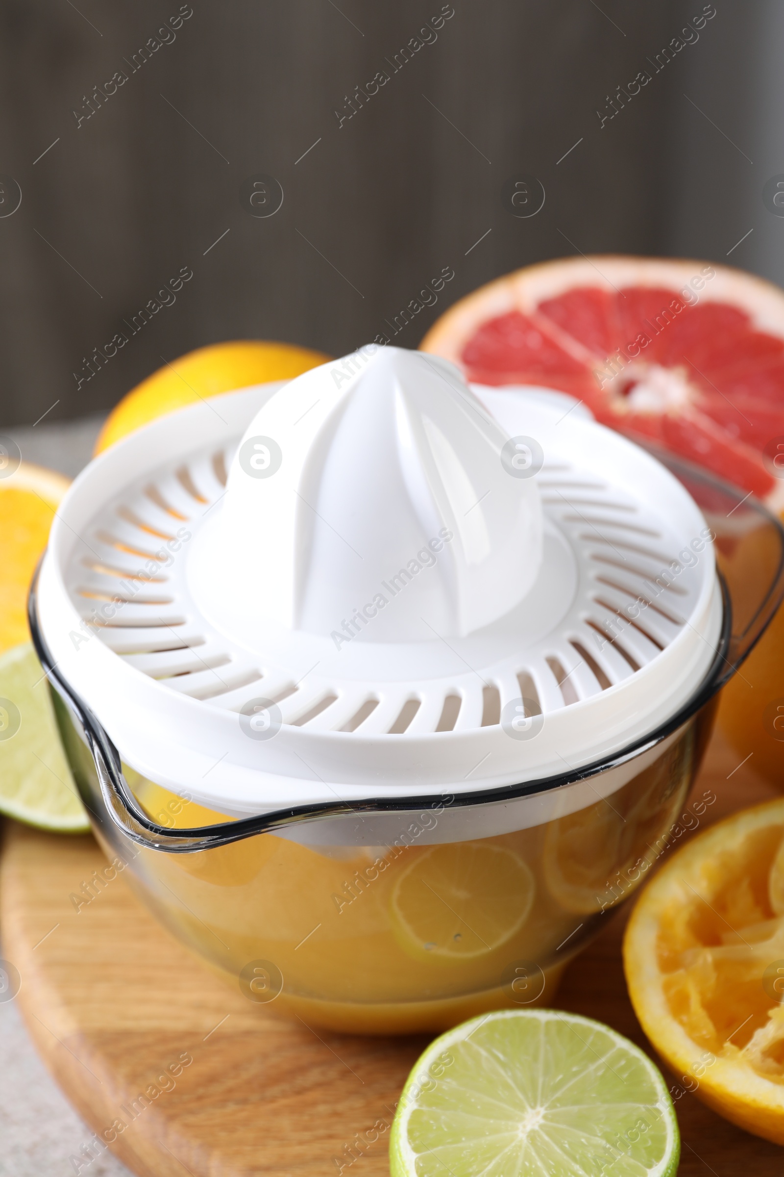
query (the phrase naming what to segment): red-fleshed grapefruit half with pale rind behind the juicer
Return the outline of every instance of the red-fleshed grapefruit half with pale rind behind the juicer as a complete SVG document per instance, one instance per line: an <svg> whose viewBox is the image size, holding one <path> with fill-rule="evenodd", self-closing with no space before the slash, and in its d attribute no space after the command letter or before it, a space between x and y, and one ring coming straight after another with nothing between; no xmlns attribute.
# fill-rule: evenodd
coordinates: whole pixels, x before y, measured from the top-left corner
<svg viewBox="0 0 784 1177"><path fill-rule="evenodd" d="M476 384L568 392L604 425L784 506L771 464L784 443L784 293L758 278L701 261L567 258L483 286L421 346Z"/></svg>

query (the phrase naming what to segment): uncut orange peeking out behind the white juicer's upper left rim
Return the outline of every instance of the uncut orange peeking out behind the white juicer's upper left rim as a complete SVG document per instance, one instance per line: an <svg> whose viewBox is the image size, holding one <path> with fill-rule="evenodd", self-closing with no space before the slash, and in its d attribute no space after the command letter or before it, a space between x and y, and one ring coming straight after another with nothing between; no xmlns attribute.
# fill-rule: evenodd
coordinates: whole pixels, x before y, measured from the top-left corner
<svg viewBox="0 0 784 1177"><path fill-rule="evenodd" d="M188 352L142 380L109 413L95 445L108 448L141 425L206 397L272 380L293 380L329 355L309 347L244 339Z"/></svg>

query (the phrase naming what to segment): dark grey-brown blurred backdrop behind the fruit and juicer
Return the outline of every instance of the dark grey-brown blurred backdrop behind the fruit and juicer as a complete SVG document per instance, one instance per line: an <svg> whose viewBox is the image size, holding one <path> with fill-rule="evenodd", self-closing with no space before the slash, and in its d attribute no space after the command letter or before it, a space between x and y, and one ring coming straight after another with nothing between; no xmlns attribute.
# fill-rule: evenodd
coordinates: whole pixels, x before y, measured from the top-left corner
<svg viewBox="0 0 784 1177"><path fill-rule="evenodd" d="M102 413L222 339L346 352L442 267L454 279L396 343L563 254L782 278L760 194L784 171L783 49L773 0L0 0L0 427ZM528 219L503 200L521 173L547 193ZM259 174L282 189L274 215L252 215Z"/></svg>

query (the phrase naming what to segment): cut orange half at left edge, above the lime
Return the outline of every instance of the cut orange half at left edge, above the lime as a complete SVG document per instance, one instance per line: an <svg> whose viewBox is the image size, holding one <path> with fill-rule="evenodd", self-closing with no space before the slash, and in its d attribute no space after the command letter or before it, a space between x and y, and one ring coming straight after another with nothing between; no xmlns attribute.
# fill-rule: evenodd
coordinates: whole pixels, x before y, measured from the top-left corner
<svg viewBox="0 0 784 1177"><path fill-rule="evenodd" d="M0 653L29 640L27 592L68 479L20 463L0 479Z"/></svg>

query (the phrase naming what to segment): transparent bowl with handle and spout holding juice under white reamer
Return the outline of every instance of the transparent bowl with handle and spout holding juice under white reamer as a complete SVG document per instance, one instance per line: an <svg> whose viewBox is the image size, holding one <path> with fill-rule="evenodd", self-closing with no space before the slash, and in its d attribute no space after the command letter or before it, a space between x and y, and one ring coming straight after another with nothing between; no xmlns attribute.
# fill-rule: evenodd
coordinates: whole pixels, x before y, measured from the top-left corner
<svg viewBox="0 0 784 1177"><path fill-rule="evenodd" d="M678 714L622 752L505 789L369 794L227 820L121 763L52 664L33 585L34 641L107 870L126 872L158 918L249 1000L309 1023L440 1030L482 1010L550 1002L567 962L711 804L697 796L684 809L717 692L784 593L778 521L657 457L716 533L724 629L711 670Z"/></svg>

